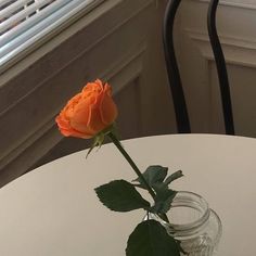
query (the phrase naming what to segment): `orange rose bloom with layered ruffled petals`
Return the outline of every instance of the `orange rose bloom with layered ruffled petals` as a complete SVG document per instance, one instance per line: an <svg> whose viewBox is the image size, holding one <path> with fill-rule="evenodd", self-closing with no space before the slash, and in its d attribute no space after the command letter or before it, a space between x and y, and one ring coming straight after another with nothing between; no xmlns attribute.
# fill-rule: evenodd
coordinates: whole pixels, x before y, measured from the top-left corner
<svg viewBox="0 0 256 256"><path fill-rule="evenodd" d="M116 117L112 89L98 79L73 97L55 120L62 135L89 139L110 127Z"/></svg>

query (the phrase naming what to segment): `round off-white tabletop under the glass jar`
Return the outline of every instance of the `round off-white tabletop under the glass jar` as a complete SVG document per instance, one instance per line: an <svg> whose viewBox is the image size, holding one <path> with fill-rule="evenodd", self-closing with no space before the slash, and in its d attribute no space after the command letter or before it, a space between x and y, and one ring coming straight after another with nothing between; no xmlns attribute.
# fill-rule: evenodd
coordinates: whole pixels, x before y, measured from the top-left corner
<svg viewBox="0 0 256 256"><path fill-rule="evenodd" d="M221 218L219 256L255 256L256 139L171 135L124 141L143 171L181 169L176 190L201 194ZM93 189L136 178L113 144L86 159L78 152L41 166L0 190L1 256L125 256L143 210L115 213Z"/></svg>

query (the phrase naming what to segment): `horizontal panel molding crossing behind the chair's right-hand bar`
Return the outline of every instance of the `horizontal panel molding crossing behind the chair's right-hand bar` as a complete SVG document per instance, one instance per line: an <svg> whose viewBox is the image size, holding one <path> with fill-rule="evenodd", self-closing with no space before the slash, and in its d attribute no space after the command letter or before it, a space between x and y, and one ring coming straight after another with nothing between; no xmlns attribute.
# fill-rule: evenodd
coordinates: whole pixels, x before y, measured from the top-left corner
<svg viewBox="0 0 256 256"><path fill-rule="evenodd" d="M184 33L196 43L205 59L214 60L207 34L192 29L184 29ZM219 35L219 39L228 64L256 67L256 40L223 35Z"/></svg>

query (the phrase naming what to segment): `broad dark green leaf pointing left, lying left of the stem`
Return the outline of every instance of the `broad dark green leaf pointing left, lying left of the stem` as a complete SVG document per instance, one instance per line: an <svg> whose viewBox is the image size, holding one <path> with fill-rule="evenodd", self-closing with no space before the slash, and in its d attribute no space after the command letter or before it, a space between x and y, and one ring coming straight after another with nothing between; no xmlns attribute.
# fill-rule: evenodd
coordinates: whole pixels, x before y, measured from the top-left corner
<svg viewBox="0 0 256 256"><path fill-rule="evenodd" d="M115 212L129 212L133 209L149 209L150 203L145 201L135 187L126 180L114 180L95 189L100 201Z"/></svg>

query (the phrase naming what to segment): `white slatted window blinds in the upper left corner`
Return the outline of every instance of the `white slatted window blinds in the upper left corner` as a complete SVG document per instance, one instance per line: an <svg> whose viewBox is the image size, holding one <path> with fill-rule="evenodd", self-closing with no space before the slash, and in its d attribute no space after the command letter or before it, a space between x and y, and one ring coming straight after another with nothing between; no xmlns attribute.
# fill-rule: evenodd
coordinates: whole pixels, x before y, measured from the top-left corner
<svg viewBox="0 0 256 256"><path fill-rule="evenodd" d="M0 67L101 0L0 0Z"/></svg>

